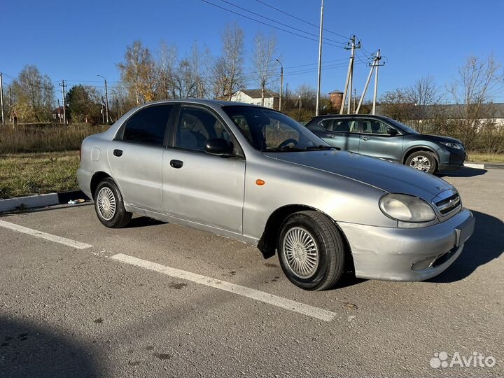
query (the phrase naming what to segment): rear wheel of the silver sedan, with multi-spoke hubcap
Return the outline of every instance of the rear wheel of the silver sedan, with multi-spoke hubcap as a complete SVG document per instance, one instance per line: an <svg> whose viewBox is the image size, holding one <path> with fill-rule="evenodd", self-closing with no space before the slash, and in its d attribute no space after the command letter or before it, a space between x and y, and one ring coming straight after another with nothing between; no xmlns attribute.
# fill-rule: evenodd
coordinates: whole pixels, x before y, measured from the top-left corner
<svg viewBox="0 0 504 378"><path fill-rule="evenodd" d="M123 196L110 178L100 181L94 191L94 209L99 221L109 228L124 227L133 215L126 211Z"/></svg>

